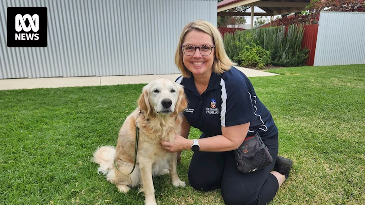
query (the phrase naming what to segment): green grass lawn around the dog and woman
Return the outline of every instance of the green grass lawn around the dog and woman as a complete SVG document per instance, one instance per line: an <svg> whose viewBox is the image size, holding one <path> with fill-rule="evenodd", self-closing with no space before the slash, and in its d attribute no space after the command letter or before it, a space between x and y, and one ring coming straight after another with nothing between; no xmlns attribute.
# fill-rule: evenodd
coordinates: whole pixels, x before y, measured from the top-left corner
<svg viewBox="0 0 365 205"><path fill-rule="evenodd" d="M270 204L365 204L365 65L269 72L282 75L250 80L278 126L279 154L294 161ZM91 162L97 146L116 145L142 86L0 91L0 204L143 204ZM186 187L154 179L158 204L223 204L219 190L189 185L191 156L178 166Z"/></svg>

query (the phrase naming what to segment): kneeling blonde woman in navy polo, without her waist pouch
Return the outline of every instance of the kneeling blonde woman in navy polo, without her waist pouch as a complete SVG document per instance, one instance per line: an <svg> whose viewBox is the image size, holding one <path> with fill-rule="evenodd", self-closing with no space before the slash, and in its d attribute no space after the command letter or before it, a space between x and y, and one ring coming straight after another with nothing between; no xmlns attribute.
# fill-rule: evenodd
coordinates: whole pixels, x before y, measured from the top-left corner
<svg viewBox="0 0 365 205"><path fill-rule="evenodd" d="M266 204L288 178L292 160L277 156L278 130L268 109L256 96L249 79L224 51L222 36L211 23L196 20L180 36L175 63L189 102L181 136L161 142L170 152L193 150L188 178L200 191L221 188L228 205ZM188 139L190 127L203 133ZM273 162L243 174L235 165L232 150L258 133L269 148ZM273 170L273 171L272 171Z"/></svg>

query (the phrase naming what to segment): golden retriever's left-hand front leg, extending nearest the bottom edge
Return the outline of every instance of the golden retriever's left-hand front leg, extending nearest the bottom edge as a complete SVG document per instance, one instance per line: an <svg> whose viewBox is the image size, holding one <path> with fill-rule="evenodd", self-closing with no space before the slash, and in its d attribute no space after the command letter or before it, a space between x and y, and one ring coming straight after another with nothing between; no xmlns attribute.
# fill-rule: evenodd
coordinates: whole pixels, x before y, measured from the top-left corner
<svg viewBox="0 0 365 205"><path fill-rule="evenodd" d="M152 181L152 163L150 160L139 159L139 167L141 169L143 192L145 193L145 204L157 205Z"/></svg>

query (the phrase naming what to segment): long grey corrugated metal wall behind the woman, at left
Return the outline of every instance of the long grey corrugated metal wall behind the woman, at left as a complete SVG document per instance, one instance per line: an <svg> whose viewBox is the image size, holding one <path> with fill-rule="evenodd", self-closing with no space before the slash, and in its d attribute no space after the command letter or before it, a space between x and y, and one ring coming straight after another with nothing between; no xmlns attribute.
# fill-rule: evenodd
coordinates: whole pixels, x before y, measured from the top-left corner
<svg viewBox="0 0 365 205"><path fill-rule="evenodd" d="M48 46L6 46L7 7L47 7ZM0 79L178 73L188 22L216 25L217 0L1 0Z"/></svg>

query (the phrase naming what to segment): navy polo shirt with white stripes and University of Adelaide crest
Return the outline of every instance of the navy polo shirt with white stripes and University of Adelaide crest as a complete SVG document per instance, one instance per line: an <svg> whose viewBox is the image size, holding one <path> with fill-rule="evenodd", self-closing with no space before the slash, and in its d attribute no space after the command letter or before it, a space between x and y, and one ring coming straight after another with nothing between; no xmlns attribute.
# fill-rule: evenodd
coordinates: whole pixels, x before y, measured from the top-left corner
<svg viewBox="0 0 365 205"><path fill-rule="evenodd" d="M247 136L258 132L262 139L277 134L277 127L269 110L256 96L245 74L231 67L222 74L212 73L208 88L198 93L194 77L176 79L184 86L188 107L181 113L192 127L207 136L222 134L222 127L250 122Z"/></svg>

